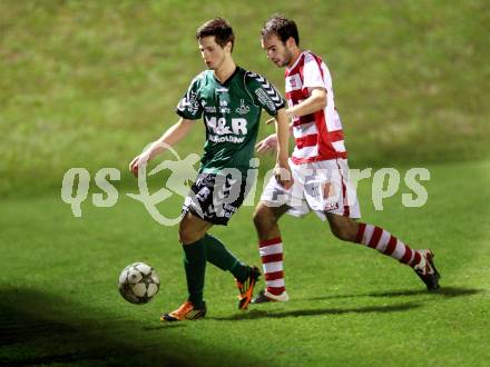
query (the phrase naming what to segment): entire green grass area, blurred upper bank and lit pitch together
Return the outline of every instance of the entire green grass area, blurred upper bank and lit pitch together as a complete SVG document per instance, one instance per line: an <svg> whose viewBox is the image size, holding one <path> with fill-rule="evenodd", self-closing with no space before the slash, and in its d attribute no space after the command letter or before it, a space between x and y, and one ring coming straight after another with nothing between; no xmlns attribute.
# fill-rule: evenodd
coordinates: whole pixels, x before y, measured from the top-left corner
<svg viewBox="0 0 490 367"><path fill-rule="evenodd" d="M203 70L194 31L212 17L232 22L237 63L283 89L258 39L277 11L329 65L351 168L430 169L421 208L402 206L404 186L383 211L372 180L359 196L363 220L434 250L443 288L428 294L410 268L314 217L285 217L290 302L239 313L232 276L209 266L206 319L161 325L186 296L177 228L125 196L137 190L127 163L176 121ZM0 365L488 366L489 14L486 0L0 1ZM196 128L178 152L202 145ZM60 198L72 167L92 179L119 169L117 204L89 196L75 218ZM212 232L257 264L252 210ZM117 291L138 260L163 281L146 306Z"/></svg>

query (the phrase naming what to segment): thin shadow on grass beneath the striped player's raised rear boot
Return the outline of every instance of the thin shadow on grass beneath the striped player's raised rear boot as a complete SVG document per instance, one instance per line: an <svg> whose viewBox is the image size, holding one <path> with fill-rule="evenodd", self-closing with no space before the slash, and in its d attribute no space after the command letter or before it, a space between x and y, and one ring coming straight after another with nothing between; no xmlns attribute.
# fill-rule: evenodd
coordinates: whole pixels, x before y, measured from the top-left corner
<svg viewBox="0 0 490 367"><path fill-rule="evenodd" d="M393 290L393 291L382 291L382 292L370 292L370 294L359 294L359 295L330 295L312 298L303 298L304 300L323 300L323 299L339 299L339 298L360 298L360 297L401 297L401 296L441 296L441 297L463 297L473 296L483 291L483 289L474 288L459 288L459 287L443 287L437 290L428 291L425 289L419 290Z"/></svg>

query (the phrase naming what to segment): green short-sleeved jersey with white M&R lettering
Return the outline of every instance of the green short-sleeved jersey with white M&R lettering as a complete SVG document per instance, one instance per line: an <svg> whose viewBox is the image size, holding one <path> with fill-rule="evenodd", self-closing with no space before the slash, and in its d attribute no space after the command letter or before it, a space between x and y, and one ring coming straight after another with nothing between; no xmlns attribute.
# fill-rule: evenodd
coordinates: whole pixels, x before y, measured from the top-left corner
<svg viewBox="0 0 490 367"><path fill-rule="evenodd" d="M199 172L237 168L246 173L262 109L276 116L283 107L283 97L264 77L237 67L223 85L212 70L203 71L190 82L176 112L189 120L204 117L206 143Z"/></svg>

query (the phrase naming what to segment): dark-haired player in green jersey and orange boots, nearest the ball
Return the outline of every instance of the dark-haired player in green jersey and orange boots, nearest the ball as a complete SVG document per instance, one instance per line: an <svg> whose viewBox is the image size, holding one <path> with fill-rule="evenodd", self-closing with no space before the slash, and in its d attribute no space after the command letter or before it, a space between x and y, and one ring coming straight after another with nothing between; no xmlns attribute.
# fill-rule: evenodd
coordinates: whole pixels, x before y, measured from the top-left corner
<svg viewBox="0 0 490 367"><path fill-rule="evenodd" d="M238 308L246 309L252 299L261 275L258 269L243 264L207 231L214 225L226 226L244 201L262 109L277 121L275 176L284 187L292 185L284 99L262 76L235 65L232 58L234 34L226 20L215 18L205 22L197 29L196 39L208 70L194 78L178 103L178 122L129 165L131 172L137 176L139 167L184 139L195 121L204 118L204 155L196 181L185 199L179 225L188 298L178 309L163 314L161 321L205 316L203 291L206 261L233 274L239 290Z"/></svg>

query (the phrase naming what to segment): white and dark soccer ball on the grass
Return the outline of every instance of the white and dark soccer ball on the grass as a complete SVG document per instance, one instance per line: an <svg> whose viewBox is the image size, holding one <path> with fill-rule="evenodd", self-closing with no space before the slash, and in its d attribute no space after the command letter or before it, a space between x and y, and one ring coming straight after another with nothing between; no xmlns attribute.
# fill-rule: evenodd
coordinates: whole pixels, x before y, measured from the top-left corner
<svg viewBox="0 0 490 367"><path fill-rule="evenodd" d="M145 262L128 265L119 276L119 292L129 302L147 304L160 289L155 269Z"/></svg>

